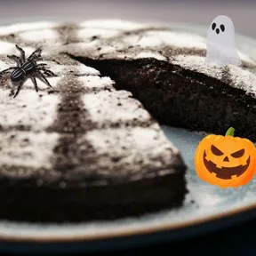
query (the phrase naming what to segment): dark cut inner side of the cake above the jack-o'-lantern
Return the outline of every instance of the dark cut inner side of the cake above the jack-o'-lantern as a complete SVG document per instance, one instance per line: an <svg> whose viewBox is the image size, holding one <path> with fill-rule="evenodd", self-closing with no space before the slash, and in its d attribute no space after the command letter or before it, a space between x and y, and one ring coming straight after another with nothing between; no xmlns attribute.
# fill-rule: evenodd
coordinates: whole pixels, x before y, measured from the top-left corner
<svg viewBox="0 0 256 256"><path fill-rule="evenodd" d="M154 58L92 60L68 56L98 69L101 76L109 76L116 82L116 90L132 92L161 125L204 134L225 134L232 126L237 127L236 136L256 141L256 127L251 125L256 118L254 99L230 86L227 72L220 80Z"/></svg>

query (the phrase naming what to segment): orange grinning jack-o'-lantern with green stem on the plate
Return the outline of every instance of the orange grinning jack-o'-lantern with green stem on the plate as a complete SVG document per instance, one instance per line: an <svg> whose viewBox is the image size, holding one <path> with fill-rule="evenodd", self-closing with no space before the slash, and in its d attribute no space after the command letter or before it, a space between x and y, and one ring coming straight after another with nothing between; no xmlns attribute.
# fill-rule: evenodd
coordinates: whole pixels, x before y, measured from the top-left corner
<svg viewBox="0 0 256 256"><path fill-rule="evenodd" d="M256 148L251 140L234 137L230 127L225 136L210 134L196 148L195 168L201 180L220 188L249 183L256 169Z"/></svg>

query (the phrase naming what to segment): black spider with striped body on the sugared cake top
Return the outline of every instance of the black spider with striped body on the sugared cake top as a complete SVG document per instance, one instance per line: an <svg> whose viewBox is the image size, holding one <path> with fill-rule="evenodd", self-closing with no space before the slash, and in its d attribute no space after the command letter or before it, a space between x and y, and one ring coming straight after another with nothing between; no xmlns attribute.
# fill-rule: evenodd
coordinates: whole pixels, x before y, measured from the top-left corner
<svg viewBox="0 0 256 256"><path fill-rule="evenodd" d="M42 49L38 48L35 52L32 52L32 54L28 57L28 60L26 60L25 51L22 48L20 48L17 44L15 46L21 52L21 58L16 55L7 55L7 57L12 60L16 60L18 62L18 67L6 68L0 72L0 76L3 76L4 73L13 70L11 74L12 83L19 83L18 89L14 94L13 98L15 98L18 95L22 84L24 83L24 81L28 76L30 76L30 78L32 79L33 84L35 85L36 92L38 92L36 75L40 76L48 86L52 87L52 85L49 83L49 81L46 79L44 75L46 76L56 76L56 75L51 70L48 70L44 67L47 64L45 63L36 64L36 60L38 60L41 57ZM44 74L41 71L43 71Z"/></svg>

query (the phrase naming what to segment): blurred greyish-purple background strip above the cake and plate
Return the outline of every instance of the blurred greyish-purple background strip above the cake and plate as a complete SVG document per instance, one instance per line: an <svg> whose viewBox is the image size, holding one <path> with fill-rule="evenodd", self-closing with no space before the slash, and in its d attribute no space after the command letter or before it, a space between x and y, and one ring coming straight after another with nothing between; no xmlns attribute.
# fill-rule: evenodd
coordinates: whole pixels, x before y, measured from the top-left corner
<svg viewBox="0 0 256 256"><path fill-rule="evenodd" d="M256 37L254 0L0 0L0 22L122 18L175 21L209 26L229 16L236 33Z"/></svg>

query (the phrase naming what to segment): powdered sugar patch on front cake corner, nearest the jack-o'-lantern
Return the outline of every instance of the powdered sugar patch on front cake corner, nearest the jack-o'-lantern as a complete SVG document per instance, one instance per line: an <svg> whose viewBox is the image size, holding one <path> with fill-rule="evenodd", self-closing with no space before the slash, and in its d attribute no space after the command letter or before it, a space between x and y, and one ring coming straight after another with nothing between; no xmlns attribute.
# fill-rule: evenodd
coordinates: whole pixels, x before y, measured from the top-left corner
<svg viewBox="0 0 256 256"><path fill-rule="evenodd" d="M170 151L176 152L176 149L172 148L172 144L166 143L164 135L159 133L158 129L154 130L151 127L94 130L87 132L84 135L84 140L88 141L96 150L99 169L106 169L109 158L116 157L119 161L111 162L111 164L117 166L124 164L128 167L127 169L132 174L131 180L141 178L141 167L143 166L161 169L163 163L170 163ZM110 156L109 150L111 150ZM166 172L172 171L169 168ZM137 177L137 173L140 173L139 177ZM154 176L156 172L151 174ZM150 173L147 176L149 178Z"/></svg>

